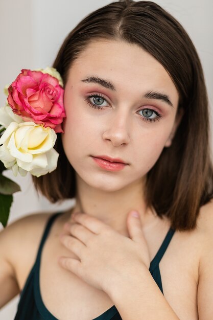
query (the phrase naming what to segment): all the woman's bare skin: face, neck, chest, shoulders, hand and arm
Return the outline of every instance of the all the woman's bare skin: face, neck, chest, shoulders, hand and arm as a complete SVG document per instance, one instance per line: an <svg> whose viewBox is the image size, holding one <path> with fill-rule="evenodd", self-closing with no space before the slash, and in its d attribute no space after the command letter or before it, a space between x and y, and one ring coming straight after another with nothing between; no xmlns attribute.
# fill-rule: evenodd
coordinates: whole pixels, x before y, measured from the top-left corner
<svg viewBox="0 0 213 320"><path fill-rule="evenodd" d="M106 79L116 90L82 81L88 76ZM150 91L167 95L173 106L145 98ZM87 104L90 94L104 96L103 109ZM124 320L212 319L211 202L201 208L197 228L176 232L163 256L164 295L148 270L170 222L146 208L144 182L162 149L172 144L181 120L178 99L162 65L125 42L90 44L69 71L62 140L76 170L73 213L80 214L67 211L55 221L40 268L43 302L57 318L93 319L116 305ZM157 111L159 121L145 121L146 108ZM91 158L100 154L128 165L107 171ZM131 216L133 210L139 218ZM0 306L25 285L49 216L22 218L0 234Z"/></svg>

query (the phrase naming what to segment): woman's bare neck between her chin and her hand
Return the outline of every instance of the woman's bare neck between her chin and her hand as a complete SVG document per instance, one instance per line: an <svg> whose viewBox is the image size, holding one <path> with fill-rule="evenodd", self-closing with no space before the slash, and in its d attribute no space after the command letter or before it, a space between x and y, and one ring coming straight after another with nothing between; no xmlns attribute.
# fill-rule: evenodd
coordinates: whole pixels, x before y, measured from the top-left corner
<svg viewBox="0 0 213 320"><path fill-rule="evenodd" d="M137 180L122 190L109 192L87 185L77 174L77 196L73 212L87 213L128 236L126 219L129 211L139 212L143 226L150 225L155 218L153 211L146 207L144 181Z"/></svg>

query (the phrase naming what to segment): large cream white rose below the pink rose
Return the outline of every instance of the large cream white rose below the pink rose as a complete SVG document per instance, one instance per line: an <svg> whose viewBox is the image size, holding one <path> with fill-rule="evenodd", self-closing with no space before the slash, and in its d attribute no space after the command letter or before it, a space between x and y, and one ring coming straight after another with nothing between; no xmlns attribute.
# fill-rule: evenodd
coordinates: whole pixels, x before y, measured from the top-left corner
<svg viewBox="0 0 213 320"><path fill-rule="evenodd" d="M53 149L57 135L50 127L34 122L11 122L0 138L0 160L7 169L26 175L52 172L57 167L58 152Z"/></svg>

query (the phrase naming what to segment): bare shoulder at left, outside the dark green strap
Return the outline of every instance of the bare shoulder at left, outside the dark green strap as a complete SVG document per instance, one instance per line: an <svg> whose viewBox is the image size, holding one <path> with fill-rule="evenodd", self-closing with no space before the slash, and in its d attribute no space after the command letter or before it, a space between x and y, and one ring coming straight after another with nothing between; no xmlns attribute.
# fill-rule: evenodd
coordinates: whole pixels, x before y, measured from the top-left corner
<svg viewBox="0 0 213 320"><path fill-rule="evenodd" d="M53 213L35 213L10 223L0 233L0 256L13 269L14 277L20 279L32 267L45 225Z"/></svg>

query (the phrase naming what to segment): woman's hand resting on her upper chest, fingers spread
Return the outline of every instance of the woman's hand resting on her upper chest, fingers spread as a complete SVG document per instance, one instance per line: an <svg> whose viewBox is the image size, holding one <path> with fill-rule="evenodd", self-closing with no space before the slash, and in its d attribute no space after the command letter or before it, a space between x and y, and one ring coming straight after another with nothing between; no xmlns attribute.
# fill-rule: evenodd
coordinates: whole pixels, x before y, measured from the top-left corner
<svg viewBox="0 0 213 320"><path fill-rule="evenodd" d="M131 211L127 216L130 238L85 213L76 213L76 223L67 222L60 237L79 259L60 257L59 263L89 285L107 292L117 277L131 279L138 266L150 266L150 257L140 219Z"/></svg>

